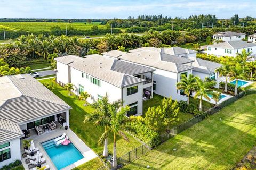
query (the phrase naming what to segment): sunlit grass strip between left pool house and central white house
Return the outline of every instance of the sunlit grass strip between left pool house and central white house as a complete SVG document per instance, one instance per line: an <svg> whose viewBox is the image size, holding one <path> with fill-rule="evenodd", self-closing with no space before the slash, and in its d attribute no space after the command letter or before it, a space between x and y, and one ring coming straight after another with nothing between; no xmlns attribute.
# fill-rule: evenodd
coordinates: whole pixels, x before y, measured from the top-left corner
<svg viewBox="0 0 256 170"><path fill-rule="evenodd" d="M63 101L70 105L73 109L70 111L70 129L73 130L87 146L93 149L96 153L103 151L103 146L98 146L98 139L103 133L103 128L96 127L92 123L83 123L85 113L91 113L91 106L83 106L83 101L79 101L76 95L68 95L67 90L63 89L52 79L39 80L39 82L53 83L52 92L59 96ZM124 141L122 138L117 138L117 157L120 157L126 152L138 147L141 143L128 135L130 142ZM113 152L113 135L109 135L108 149Z"/></svg>

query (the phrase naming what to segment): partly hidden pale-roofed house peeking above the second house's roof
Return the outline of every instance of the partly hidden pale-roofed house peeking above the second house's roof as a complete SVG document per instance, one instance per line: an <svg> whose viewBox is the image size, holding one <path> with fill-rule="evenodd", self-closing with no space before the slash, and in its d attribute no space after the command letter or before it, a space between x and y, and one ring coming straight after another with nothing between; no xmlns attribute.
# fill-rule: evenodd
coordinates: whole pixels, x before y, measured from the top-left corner
<svg viewBox="0 0 256 170"><path fill-rule="evenodd" d="M142 50L161 52L161 53L170 54L178 57L196 57L196 53L197 53L197 51L195 50L181 48L181 47L171 47L171 48L141 47L137 49L132 49L129 52L136 53Z"/></svg>

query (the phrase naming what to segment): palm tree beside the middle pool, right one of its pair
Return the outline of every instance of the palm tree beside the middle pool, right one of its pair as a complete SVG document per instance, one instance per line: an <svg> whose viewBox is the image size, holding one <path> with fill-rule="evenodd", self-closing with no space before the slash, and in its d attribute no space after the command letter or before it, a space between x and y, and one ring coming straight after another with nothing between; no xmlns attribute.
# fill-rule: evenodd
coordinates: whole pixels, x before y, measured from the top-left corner
<svg viewBox="0 0 256 170"><path fill-rule="evenodd" d="M208 95L214 96L215 93L213 91L213 86L216 85L215 81L210 80L209 78L205 78L204 81L201 80L199 77L197 77L197 88L196 88L196 94L194 98L200 99L200 105L199 105L199 111L202 111L202 104L203 104L203 97L206 98L207 100L211 100Z"/></svg>

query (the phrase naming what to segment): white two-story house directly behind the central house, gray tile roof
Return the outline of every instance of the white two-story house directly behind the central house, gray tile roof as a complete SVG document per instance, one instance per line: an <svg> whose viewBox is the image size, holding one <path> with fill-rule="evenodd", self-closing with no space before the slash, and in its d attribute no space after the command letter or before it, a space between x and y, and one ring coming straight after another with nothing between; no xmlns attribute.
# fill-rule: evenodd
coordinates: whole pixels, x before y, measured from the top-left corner
<svg viewBox="0 0 256 170"><path fill-rule="evenodd" d="M164 97L172 97L173 100L187 100L183 92L177 90L176 84L180 81L181 75L192 73L193 67L190 60L185 57L178 57L161 53L160 48L144 47L130 51L131 53L112 50L102 53L103 56L117 58L121 61L131 62L148 66L155 69L154 92Z"/></svg>

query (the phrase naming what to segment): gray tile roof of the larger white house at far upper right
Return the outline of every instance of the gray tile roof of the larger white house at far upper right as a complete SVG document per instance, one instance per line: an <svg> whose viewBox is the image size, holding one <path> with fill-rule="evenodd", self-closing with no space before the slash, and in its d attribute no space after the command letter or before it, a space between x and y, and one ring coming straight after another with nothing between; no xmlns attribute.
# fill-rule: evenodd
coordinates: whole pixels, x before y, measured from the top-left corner
<svg viewBox="0 0 256 170"><path fill-rule="evenodd" d="M248 48L248 47L254 47L254 46L256 46L255 43L246 43L245 41L241 41L241 40L228 41L228 42L208 45L208 47L225 48L225 49L241 49L241 48Z"/></svg>

